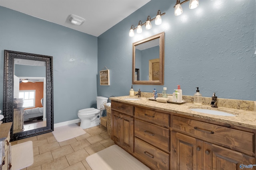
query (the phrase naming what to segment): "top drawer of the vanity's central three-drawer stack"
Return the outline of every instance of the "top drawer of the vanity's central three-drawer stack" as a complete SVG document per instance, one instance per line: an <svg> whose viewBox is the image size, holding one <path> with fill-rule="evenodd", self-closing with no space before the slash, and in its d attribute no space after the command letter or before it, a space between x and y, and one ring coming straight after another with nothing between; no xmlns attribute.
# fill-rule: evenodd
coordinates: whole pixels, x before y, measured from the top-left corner
<svg viewBox="0 0 256 170"><path fill-rule="evenodd" d="M166 113L135 107L135 117L156 125L170 127L170 115Z"/></svg>

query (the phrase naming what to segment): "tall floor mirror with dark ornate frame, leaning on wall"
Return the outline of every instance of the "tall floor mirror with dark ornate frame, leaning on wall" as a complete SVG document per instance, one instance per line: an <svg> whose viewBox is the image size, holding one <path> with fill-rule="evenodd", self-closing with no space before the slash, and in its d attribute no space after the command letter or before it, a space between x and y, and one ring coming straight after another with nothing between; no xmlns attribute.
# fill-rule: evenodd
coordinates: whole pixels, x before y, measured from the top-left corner
<svg viewBox="0 0 256 170"><path fill-rule="evenodd" d="M53 131L52 57L4 50L4 123L10 141Z"/></svg>

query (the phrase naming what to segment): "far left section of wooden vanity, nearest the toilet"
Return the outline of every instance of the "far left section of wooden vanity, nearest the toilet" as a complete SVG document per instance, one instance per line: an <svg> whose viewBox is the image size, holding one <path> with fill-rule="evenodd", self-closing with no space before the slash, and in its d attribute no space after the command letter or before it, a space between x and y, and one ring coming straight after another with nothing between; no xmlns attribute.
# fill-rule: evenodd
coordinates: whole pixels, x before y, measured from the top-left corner
<svg viewBox="0 0 256 170"><path fill-rule="evenodd" d="M112 133L111 139L127 152L134 152L134 117L133 106L111 103Z"/></svg>

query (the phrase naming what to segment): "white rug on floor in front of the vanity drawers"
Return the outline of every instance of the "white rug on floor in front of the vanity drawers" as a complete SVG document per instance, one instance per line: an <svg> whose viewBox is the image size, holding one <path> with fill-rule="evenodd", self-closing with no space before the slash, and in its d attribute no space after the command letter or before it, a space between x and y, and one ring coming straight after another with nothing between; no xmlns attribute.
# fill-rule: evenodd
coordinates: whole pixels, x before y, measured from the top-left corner
<svg viewBox="0 0 256 170"><path fill-rule="evenodd" d="M112 145L86 158L92 170L150 170L124 149Z"/></svg>

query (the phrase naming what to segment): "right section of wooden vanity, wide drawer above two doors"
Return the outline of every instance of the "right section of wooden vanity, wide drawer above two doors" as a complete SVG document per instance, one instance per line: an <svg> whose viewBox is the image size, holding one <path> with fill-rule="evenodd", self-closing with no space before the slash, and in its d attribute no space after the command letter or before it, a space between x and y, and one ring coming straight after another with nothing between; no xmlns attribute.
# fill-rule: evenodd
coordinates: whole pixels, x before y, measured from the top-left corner
<svg viewBox="0 0 256 170"><path fill-rule="evenodd" d="M255 164L254 133L178 116L172 117L172 130L172 170L240 170Z"/></svg>

